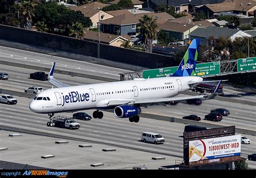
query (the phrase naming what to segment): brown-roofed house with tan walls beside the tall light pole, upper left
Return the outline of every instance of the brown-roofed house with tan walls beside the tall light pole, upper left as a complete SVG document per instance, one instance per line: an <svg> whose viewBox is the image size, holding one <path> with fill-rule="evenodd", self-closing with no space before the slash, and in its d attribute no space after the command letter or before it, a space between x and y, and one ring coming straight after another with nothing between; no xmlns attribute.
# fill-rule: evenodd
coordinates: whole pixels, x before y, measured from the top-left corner
<svg viewBox="0 0 256 178"><path fill-rule="evenodd" d="M113 16L107 12L102 10L97 10L90 8L90 6L81 5L81 6L70 6L71 10L81 11L85 17L89 17L92 20L92 26L97 26L99 22L99 17L104 15L104 19L112 18Z"/></svg>

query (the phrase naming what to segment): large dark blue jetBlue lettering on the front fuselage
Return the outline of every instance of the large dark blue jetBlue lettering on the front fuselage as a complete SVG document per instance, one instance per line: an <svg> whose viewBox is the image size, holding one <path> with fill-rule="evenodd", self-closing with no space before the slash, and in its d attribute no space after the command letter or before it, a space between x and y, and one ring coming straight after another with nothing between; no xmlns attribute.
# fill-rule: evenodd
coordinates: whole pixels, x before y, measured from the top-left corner
<svg viewBox="0 0 256 178"><path fill-rule="evenodd" d="M71 91L68 95L63 95L63 103L62 106L66 103L76 103L76 102L84 102L89 101L90 95L86 92L83 94L80 94L78 91Z"/></svg>

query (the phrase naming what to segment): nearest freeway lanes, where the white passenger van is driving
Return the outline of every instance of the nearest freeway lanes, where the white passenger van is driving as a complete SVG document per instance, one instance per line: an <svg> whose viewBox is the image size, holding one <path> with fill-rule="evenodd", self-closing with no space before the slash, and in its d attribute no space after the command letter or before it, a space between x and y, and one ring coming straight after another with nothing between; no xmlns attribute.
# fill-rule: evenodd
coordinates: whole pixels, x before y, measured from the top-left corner
<svg viewBox="0 0 256 178"><path fill-rule="evenodd" d="M90 140L102 141L102 143L113 143L117 145L143 148L151 151L159 151L167 154L183 156L183 135L184 124L171 123L161 120L141 118L139 123L130 123L128 119L119 119L113 113L104 112L103 119L77 120L81 124L78 130L62 129L57 127L47 127L47 115L33 113L29 110L28 104L31 99L17 97L16 105L1 104L0 124L21 127L24 129L39 130L73 136L76 138L86 138ZM152 109L154 110L154 109ZM86 111L91 114L92 110ZM70 117L72 113L62 113L62 116ZM157 132L163 135L165 143L154 145L143 143L140 136L143 131ZM247 136L252 140L250 145L242 145L242 153L252 154L255 152L256 137ZM256 168L255 161L248 161L250 167Z"/></svg>

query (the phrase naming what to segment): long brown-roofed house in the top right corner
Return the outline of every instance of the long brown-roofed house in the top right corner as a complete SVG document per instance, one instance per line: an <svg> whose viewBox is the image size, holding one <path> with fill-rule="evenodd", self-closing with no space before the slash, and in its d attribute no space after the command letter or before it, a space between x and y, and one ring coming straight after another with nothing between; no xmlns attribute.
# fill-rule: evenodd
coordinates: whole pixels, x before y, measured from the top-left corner
<svg viewBox="0 0 256 178"><path fill-rule="evenodd" d="M206 4L196 9L196 13L204 13L206 18L214 18L219 12L241 13L248 16L256 9L256 1L253 0L233 0L217 4Z"/></svg>

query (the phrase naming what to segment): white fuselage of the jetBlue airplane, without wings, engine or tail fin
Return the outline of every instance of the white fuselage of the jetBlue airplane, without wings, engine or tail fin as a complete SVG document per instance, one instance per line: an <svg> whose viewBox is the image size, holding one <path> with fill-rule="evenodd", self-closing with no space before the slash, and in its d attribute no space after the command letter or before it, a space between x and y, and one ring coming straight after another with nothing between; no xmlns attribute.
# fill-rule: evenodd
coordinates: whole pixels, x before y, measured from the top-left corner
<svg viewBox="0 0 256 178"><path fill-rule="evenodd" d="M201 77L162 77L52 88L40 92L36 97L42 99L33 99L29 107L37 113L108 109L110 99L168 98L190 89L189 82L201 81Z"/></svg>

